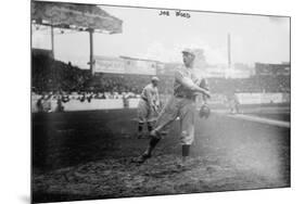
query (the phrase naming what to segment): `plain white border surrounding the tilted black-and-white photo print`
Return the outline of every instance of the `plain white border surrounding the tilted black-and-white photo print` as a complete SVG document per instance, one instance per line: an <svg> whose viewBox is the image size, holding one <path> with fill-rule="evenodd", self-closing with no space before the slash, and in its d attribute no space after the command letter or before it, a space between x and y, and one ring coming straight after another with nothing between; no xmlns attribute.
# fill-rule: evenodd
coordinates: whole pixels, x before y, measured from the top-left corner
<svg viewBox="0 0 305 204"><path fill-rule="evenodd" d="M272 0L73 0L74 2L182 8L188 10L292 16L292 188L66 203L300 203L304 179L304 7ZM29 196L29 1L1 2L1 186L0 203L28 203Z"/></svg>

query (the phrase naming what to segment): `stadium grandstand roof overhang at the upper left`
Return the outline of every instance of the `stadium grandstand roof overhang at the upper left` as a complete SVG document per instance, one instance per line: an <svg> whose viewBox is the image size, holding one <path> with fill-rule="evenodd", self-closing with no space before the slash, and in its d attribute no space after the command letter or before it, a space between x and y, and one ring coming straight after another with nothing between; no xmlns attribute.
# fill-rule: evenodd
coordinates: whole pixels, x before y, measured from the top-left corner
<svg viewBox="0 0 305 204"><path fill-rule="evenodd" d="M59 28L96 33L122 33L123 21L93 4L31 2L31 22Z"/></svg>

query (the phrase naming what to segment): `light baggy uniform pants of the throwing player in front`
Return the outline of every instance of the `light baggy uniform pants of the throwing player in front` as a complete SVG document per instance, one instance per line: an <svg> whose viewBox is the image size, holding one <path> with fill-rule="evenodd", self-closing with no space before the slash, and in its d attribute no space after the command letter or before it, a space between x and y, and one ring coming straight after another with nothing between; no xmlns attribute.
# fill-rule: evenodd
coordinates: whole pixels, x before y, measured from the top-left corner
<svg viewBox="0 0 305 204"><path fill-rule="evenodd" d="M157 117L154 130L161 133L177 117L180 118L181 144L192 144L194 140L195 103L191 99L171 95Z"/></svg>

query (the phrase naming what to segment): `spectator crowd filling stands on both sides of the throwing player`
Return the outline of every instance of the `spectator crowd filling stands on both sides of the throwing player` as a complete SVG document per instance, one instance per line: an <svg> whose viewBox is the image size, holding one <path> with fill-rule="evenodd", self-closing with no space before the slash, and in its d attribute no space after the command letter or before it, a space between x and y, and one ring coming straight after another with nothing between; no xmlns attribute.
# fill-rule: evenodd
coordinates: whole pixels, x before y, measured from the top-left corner
<svg viewBox="0 0 305 204"><path fill-rule="evenodd" d="M48 97L77 99L137 98L152 76L129 74L96 74L43 54L33 54L33 92ZM173 91L174 76L158 76L161 94ZM250 78L208 78L212 93L290 92L290 76L253 76ZM46 92L47 91L47 92ZM51 92L51 93L50 93ZM59 97L60 95L60 97ZM64 102L64 101L62 101Z"/></svg>

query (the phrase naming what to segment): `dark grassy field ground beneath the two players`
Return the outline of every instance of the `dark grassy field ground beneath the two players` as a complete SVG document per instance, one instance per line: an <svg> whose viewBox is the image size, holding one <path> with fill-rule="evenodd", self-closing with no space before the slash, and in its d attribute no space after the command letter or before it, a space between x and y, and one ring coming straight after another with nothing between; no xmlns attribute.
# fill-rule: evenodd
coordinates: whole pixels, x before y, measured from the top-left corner
<svg viewBox="0 0 305 204"><path fill-rule="evenodd" d="M196 118L181 169L178 122L151 160L130 163L148 144L135 118L136 110L33 114L34 202L290 187L290 128Z"/></svg>

